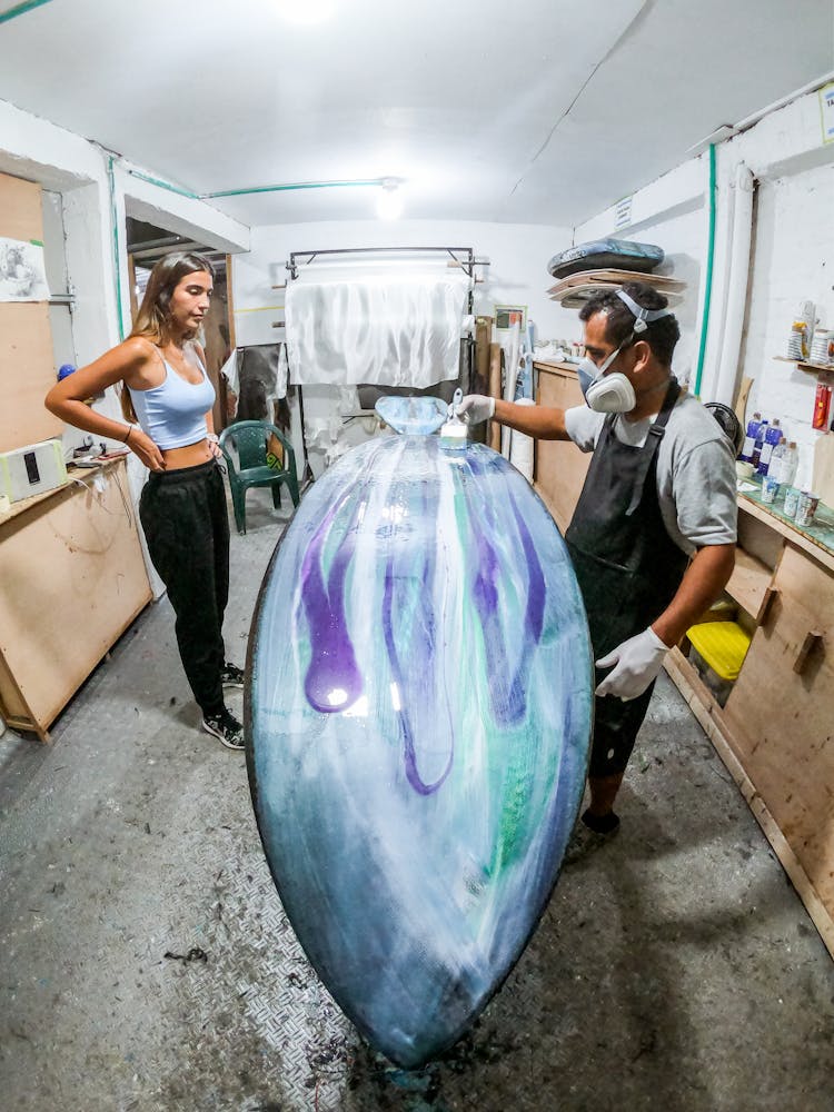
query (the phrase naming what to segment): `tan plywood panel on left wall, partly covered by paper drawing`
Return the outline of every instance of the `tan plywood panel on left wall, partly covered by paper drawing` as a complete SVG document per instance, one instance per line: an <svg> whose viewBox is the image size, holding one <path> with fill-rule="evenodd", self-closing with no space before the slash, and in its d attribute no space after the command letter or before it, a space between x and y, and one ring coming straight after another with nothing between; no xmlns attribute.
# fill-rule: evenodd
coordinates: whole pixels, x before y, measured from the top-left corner
<svg viewBox="0 0 834 1112"><path fill-rule="evenodd" d="M41 189L0 173L0 236L43 239ZM52 330L46 301L0 302L0 451L60 436L63 425L43 408L54 383Z"/></svg>

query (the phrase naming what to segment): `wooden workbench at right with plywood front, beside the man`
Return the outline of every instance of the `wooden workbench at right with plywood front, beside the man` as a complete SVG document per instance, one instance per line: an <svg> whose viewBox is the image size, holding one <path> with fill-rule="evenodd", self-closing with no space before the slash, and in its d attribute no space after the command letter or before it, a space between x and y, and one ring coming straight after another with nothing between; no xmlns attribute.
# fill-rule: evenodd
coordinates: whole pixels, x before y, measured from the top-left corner
<svg viewBox="0 0 834 1112"><path fill-rule="evenodd" d="M726 704L681 647L666 671L834 956L834 510L798 529L778 507L738 499L726 596L752 641Z"/></svg>

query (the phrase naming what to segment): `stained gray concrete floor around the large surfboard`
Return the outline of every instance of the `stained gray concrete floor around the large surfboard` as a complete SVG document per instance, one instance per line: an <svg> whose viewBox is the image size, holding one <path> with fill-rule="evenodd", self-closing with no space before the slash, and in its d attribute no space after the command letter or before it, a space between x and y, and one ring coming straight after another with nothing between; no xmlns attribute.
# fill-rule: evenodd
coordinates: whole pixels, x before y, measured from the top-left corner
<svg viewBox="0 0 834 1112"><path fill-rule="evenodd" d="M259 494L232 539L241 664L286 520ZM658 687L619 836L565 870L471 1034L404 1074L307 965L242 755L198 731L170 608L150 607L51 747L0 738L0 1108L830 1112L834 963L709 742Z"/></svg>

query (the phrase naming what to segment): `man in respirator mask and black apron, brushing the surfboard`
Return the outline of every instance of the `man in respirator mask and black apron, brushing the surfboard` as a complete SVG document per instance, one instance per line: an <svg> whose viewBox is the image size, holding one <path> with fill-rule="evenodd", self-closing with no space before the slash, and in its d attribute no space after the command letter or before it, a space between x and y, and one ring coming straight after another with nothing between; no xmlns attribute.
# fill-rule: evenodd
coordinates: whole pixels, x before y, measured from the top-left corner
<svg viewBox="0 0 834 1112"><path fill-rule="evenodd" d="M596 658L582 847L619 828L614 801L663 659L729 579L736 492L728 439L672 375L681 331L666 298L632 282L587 301L579 318L587 405L469 395L458 413L594 453L565 534Z"/></svg>

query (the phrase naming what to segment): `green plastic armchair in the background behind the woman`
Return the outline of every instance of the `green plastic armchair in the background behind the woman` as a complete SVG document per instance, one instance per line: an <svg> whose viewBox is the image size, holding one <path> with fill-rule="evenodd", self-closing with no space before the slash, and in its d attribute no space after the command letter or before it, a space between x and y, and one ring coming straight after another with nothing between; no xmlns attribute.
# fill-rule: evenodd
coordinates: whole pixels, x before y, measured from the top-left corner
<svg viewBox="0 0 834 1112"><path fill-rule="evenodd" d="M284 447L282 461L276 459L269 451L270 436L279 440ZM237 465L226 447L229 440L234 441L237 449ZM286 483L292 505L298 505L296 454L279 428L265 420L239 420L224 429L219 443L226 458L238 533L246 533L246 492L249 487L270 486L272 505L278 509L281 505L281 486Z"/></svg>

